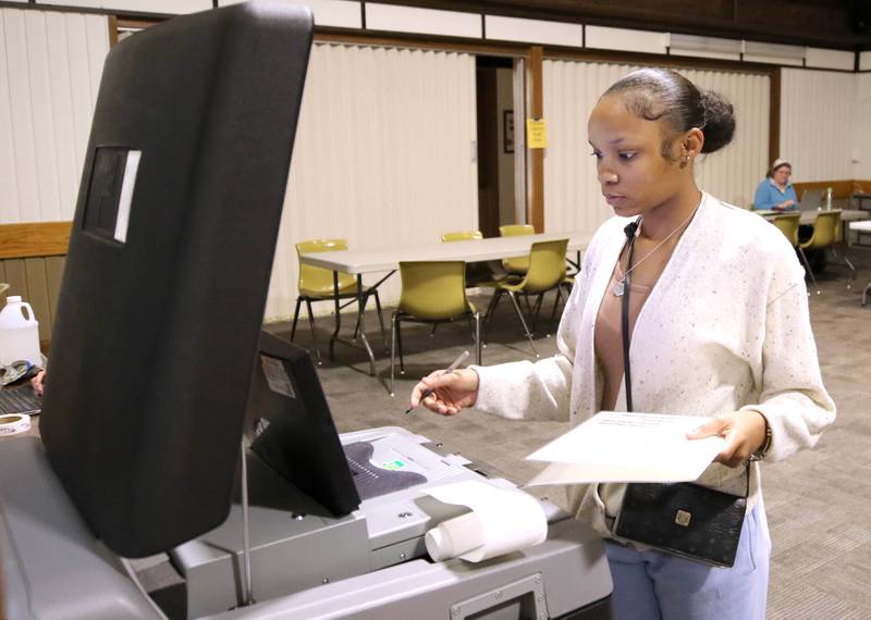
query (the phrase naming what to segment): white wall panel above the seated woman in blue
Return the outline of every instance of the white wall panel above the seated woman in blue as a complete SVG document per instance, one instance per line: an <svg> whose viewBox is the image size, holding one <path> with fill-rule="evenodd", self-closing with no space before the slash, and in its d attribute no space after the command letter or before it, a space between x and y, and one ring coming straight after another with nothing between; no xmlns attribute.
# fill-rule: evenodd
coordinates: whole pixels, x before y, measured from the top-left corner
<svg viewBox="0 0 871 620"><path fill-rule="evenodd" d="M852 178L857 148L854 120L860 75L831 71L783 70L781 153L793 164L793 181Z"/></svg>

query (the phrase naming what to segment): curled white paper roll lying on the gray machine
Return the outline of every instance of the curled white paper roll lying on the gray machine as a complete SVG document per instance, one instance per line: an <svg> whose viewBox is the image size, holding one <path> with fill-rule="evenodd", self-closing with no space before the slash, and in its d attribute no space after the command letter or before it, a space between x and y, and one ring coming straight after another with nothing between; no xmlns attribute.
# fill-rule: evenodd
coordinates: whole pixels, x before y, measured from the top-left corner
<svg viewBox="0 0 871 620"><path fill-rule="evenodd" d="M427 532L424 541L436 561L459 557L479 562L538 545L548 536L548 519L539 500L518 488L470 480L425 493L444 504L470 508Z"/></svg>

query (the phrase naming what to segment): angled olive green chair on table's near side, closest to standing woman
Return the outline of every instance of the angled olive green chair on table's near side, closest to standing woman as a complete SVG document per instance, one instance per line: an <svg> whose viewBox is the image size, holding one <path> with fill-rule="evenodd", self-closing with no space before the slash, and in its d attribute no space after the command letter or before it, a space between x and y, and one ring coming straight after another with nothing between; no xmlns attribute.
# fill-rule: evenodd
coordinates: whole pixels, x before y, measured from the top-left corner
<svg viewBox="0 0 871 620"><path fill-rule="evenodd" d="M520 319L520 324L524 326L526 337L532 346L532 351L536 354L536 357L539 357L536 343L532 340L532 333L529 331L524 313L520 310L520 305L517 301L517 295L536 295L538 297L533 308L535 317L537 318L541 309L541 302L544 299L544 294L549 290L559 289L565 282L565 252L567 246L568 239L538 241L532 244L531 251L529 252L529 269L526 272L526 276L517 283L498 283L493 297L490 299L490 306L487 309L484 331L490 324L490 321L492 321L493 313L495 312L496 306L499 306L499 300L503 295L507 294L514 305L515 312L517 312L517 318Z"/></svg>

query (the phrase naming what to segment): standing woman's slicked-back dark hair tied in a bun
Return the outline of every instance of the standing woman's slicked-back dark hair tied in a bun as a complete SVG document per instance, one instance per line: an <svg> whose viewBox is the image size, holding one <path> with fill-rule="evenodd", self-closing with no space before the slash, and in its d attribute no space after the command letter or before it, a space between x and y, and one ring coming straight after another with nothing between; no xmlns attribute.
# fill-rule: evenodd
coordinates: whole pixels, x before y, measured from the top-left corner
<svg viewBox="0 0 871 620"><path fill-rule="evenodd" d="M719 151L735 135L735 109L714 90L700 90L689 79L667 69L641 69L622 77L604 91L623 95L626 108L648 121L663 120L674 132L698 127L704 134L701 152ZM673 159L668 136L662 156Z"/></svg>

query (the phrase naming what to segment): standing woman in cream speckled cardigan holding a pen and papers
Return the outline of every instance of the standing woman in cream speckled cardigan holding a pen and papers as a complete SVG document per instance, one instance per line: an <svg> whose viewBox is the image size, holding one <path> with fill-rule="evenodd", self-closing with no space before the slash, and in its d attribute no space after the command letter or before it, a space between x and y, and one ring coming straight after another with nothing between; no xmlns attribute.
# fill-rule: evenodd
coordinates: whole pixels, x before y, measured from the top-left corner
<svg viewBox="0 0 871 620"><path fill-rule="evenodd" d="M596 233L560 324L559 354L536 363L432 373L412 393L442 414L584 422L626 410L621 293L627 271L634 410L709 416L690 436L725 447L699 483L749 493L735 566L618 541L625 486L573 487L572 509L605 538L617 618L764 618L770 540L751 457L815 444L835 416L810 328L803 270L762 218L700 191L694 165L733 136L733 108L666 70L641 70L599 99L588 135L616 218ZM624 228L637 221L631 264Z"/></svg>

